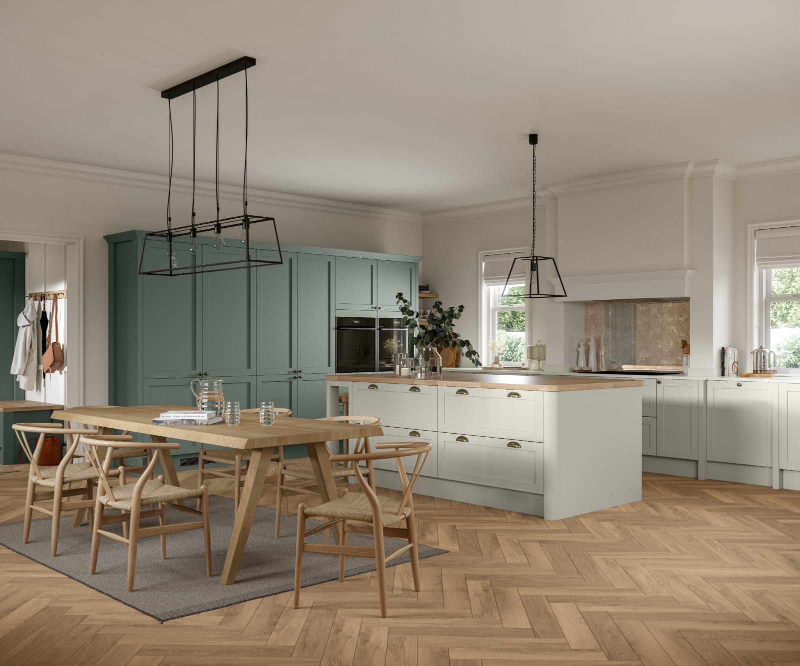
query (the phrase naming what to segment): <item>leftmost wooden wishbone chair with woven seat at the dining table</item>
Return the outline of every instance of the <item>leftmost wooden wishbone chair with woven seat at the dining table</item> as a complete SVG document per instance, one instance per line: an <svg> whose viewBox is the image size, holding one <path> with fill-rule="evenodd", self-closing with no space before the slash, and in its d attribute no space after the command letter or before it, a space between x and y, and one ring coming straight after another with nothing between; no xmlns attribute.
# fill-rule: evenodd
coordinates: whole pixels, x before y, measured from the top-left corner
<svg viewBox="0 0 800 666"><path fill-rule="evenodd" d="M78 440L80 435L90 434L98 436L97 430L86 428L64 428L58 423L15 423L11 425L16 437L22 445L22 450L26 453L30 461L30 471L28 473L28 488L25 498L25 520L22 523L22 543L28 543L30 536L30 520L34 511L52 516L53 523L50 528L50 556L55 557L58 552L58 528L61 523L62 513L68 513L77 509L94 508L94 489L98 485L98 474L94 472L88 462L74 463L75 457L83 457L82 452L78 452ZM27 435L36 434L38 439L33 450L30 449L30 442ZM66 454L58 465L43 467L38 464L39 456L42 454L42 446L47 435L58 435L64 437L66 443ZM110 441L113 435L98 436L103 441ZM124 469L111 470L110 477L119 477L124 474ZM71 484L86 482L82 488L76 488ZM65 501L68 497L80 496L82 500ZM38 506L37 502L50 500L51 508ZM91 523L90 523L91 524ZM74 525L78 527L77 524Z"/></svg>

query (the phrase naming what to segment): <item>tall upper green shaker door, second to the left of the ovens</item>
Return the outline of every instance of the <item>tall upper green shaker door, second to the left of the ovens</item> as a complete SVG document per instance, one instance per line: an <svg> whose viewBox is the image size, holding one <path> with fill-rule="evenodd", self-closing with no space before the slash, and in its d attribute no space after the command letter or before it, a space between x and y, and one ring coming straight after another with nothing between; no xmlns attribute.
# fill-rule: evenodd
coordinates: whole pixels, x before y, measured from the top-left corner
<svg viewBox="0 0 800 666"><path fill-rule="evenodd" d="M278 258L274 250L259 249L258 259ZM283 263L254 269L258 374L293 373L298 364L297 254L283 253Z"/></svg>

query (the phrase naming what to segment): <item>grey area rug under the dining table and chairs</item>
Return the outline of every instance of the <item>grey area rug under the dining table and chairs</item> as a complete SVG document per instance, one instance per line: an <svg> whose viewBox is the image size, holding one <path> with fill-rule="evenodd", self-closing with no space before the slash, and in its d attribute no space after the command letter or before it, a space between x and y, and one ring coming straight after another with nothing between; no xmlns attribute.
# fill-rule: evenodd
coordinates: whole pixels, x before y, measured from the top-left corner
<svg viewBox="0 0 800 666"><path fill-rule="evenodd" d="M232 585L220 584L219 576L222 574L234 527L234 500L218 495L210 496L210 516L211 564L214 576L206 576L202 529L168 534L166 560L161 559L160 539L158 536L150 536L139 540L134 592L126 591L127 546L101 536L97 573L91 576L90 528L86 522L80 528L70 528L70 514L62 516L58 555L55 557L50 557L50 518L39 518L31 523L27 544L22 543L22 521L0 524L0 544L161 622L294 589L297 516L292 514L289 518L282 517L281 538L276 540L274 509L258 507L242 565L236 583ZM168 522L187 520L196 520L196 517L167 509ZM158 524L158 518L142 520L142 525L144 524ZM307 520L306 529L318 524L320 523L317 520ZM106 525L104 529L122 533L122 526L119 524ZM350 545L373 543L371 536L362 534L349 534L348 540ZM387 554L406 543L390 537L386 537L384 541ZM322 543L322 533L310 536L306 542ZM425 545L420 545L418 549L420 559L447 552ZM375 561L366 557L348 557L345 561L345 576L356 576L375 570ZM396 560L392 560L389 566L408 561L409 553L404 552ZM338 556L312 552L303 555L304 588L337 580L338 576ZM375 603L378 603L377 595Z"/></svg>

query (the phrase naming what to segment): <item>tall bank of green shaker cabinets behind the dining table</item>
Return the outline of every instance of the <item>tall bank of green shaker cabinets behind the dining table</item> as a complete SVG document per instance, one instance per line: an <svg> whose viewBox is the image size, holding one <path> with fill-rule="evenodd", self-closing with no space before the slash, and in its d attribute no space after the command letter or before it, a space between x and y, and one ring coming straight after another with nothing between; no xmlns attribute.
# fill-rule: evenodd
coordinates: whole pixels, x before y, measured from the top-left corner
<svg viewBox="0 0 800 666"><path fill-rule="evenodd" d="M280 265L149 276L138 274L145 236L106 236L111 405L192 407L189 382L207 377L224 379L226 400L243 409L271 400L296 416L323 417L324 377L336 367L335 317L379 316L383 301L397 316L398 291L410 291L416 303L422 257L282 245ZM244 252L238 238L219 252L212 242L199 237L200 253L192 254L188 238L176 239L178 266L234 261ZM258 258L278 257L274 244L252 241L250 249ZM146 269L168 261L164 242L147 242Z"/></svg>

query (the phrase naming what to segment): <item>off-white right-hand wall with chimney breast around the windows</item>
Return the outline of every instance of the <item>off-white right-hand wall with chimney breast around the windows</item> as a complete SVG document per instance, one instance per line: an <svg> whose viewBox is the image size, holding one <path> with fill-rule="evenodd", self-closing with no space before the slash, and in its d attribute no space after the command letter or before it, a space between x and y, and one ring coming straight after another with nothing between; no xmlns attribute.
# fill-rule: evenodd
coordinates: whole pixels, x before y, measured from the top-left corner
<svg viewBox="0 0 800 666"><path fill-rule="evenodd" d="M580 183L554 186L557 202L550 199L546 206L555 218L549 224L548 249L558 257L564 277L693 269L691 372L718 373L723 345L738 347L740 367L749 370L749 352L756 345L748 336L746 226L800 220L800 171L739 177L737 167L722 162L701 163L694 173L686 164L686 177L654 182L646 181L645 174L644 182L606 189L590 179L590 191L582 191ZM739 171L750 173L748 169ZM664 168L665 173L676 170L678 166ZM610 183L615 180L607 177ZM430 281L446 304L467 306L458 330L477 337L478 249L527 242L530 213L458 219L458 211L448 211L430 216L447 217L422 226L422 281ZM538 333L534 337L547 343L550 367L574 363L572 348L582 337L576 312L551 302L534 317L538 330L546 319L547 339Z"/></svg>

